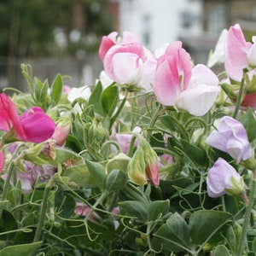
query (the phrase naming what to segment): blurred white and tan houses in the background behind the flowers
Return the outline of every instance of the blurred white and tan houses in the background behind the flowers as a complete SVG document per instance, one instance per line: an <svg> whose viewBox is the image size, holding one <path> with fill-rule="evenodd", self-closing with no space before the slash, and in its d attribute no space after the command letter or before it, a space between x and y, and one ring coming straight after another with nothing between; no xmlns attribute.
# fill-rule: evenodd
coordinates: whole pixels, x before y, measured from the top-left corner
<svg viewBox="0 0 256 256"><path fill-rule="evenodd" d="M256 34L255 0L112 0L119 3L119 32L134 32L148 49L181 40L195 63L206 63L220 32L239 23Z"/></svg>

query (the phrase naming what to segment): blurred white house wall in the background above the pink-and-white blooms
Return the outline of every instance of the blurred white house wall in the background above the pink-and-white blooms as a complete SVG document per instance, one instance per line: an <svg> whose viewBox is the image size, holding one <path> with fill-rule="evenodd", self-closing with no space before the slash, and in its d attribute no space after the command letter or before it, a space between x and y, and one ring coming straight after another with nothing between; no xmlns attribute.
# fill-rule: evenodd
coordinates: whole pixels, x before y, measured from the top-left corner
<svg viewBox="0 0 256 256"><path fill-rule="evenodd" d="M195 34L201 31L201 1L119 0L119 3L120 32L128 30L137 34L151 50L177 40L184 32ZM189 28L182 27L183 12L194 20ZM145 41L146 32L149 35L148 44Z"/></svg>

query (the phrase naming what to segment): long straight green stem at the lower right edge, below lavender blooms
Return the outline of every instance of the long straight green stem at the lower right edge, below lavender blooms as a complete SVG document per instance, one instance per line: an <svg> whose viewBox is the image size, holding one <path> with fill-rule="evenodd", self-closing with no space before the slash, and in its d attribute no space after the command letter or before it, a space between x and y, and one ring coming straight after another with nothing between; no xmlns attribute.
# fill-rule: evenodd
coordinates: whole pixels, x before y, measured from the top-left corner
<svg viewBox="0 0 256 256"><path fill-rule="evenodd" d="M256 188L256 172L254 171L253 180L252 180L251 189L250 189L250 196L248 198L248 204L247 204L246 212L244 215L244 220L243 220L242 229L241 229L241 236L240 236L240 241L238 243L236 256L242 255L245 242L247 240L247 226L249 224L251 212L253 209L255 188Z"/></svg>

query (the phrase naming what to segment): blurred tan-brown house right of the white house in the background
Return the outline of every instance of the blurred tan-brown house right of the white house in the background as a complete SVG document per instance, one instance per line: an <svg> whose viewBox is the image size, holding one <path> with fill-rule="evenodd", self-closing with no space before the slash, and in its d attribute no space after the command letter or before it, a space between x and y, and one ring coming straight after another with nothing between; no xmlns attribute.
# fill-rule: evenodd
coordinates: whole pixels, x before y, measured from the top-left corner
<svg viewBox="0 0 256 256"><path fill-rule="evenodd" d="M201 3L202 31L199 35L183 34L186 44L197 62L206 63L210 49L215 47L220 32L239 23L247 41L256 35L255 0L195 0Z"/></svg>

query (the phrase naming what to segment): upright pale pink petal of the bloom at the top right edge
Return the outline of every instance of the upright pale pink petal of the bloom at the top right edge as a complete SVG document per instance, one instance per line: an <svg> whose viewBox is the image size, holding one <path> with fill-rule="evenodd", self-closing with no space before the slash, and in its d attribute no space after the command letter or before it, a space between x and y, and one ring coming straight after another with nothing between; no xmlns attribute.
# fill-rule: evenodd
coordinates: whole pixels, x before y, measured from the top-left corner
<svg viewBox="0 0 256 256"><path fill-rule="evenodd" d="M252 44L246 42L241 27L238 24L230 26L224 46L224 67L230 79L241 81L243 68L249 64L251 47Z"/></svg>

